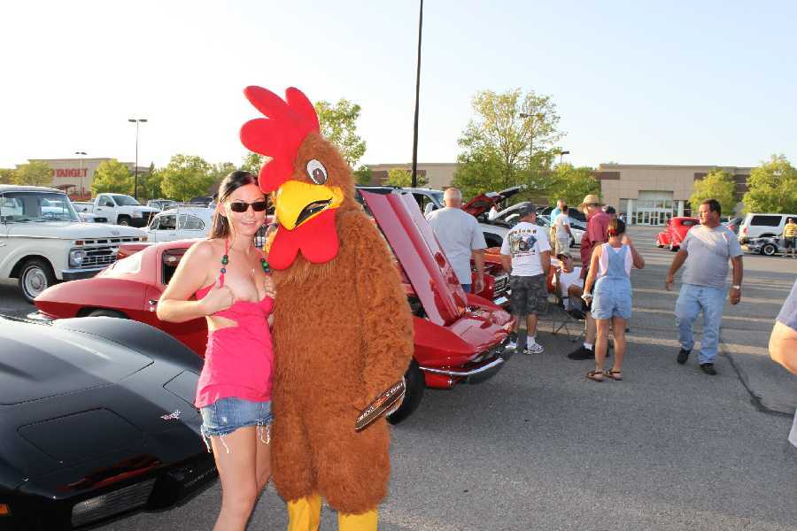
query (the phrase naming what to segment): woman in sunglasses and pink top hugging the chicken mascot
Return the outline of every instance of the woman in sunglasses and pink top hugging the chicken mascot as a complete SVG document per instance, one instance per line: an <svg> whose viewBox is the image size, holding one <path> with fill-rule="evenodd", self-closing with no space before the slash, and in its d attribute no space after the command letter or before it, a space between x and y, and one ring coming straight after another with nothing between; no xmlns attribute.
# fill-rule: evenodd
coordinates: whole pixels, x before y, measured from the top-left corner
<svg viewBox="0 0 797 531"><path fill-rule="evenodd" d="M228 174L210 238L185 253L158 304L165 321L207 319L196 405L221 477L217 530L246 527L271 475L274 355L267 319L275 294L266 256L253 240L265 223L266 206L254 175Z"/></svg>

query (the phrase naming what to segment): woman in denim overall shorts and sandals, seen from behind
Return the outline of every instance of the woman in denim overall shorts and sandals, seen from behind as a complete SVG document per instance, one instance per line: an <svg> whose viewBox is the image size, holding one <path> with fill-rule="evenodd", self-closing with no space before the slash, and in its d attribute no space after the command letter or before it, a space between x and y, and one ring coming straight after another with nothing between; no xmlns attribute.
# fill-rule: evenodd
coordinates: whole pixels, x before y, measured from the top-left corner
<svg viewBox="0 0 797 531"><path fill-rule="evenodd" d="M625 356L625 327L631 319L631 266L645 267L642 258L625 235L622 219L611 219L607 227L608 241L592 251L590 273L584 282L584 301L592 299L592 317L598 327L595 341L595 369L587 373L593 381L603 381L604 374L614 380L623 380L623 356ZM595 281L595 279L598 279ZM592 296L592 287L595 295ZM615 336L615 364L604 372L608 331Z"/></svg>

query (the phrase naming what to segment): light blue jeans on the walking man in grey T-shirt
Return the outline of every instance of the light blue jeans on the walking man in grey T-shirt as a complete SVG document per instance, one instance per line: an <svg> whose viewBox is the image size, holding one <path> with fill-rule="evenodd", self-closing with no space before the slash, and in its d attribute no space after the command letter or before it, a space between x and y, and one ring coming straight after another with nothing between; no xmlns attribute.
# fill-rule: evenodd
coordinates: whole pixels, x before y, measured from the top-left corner
<svg viewBox="0 0 797 531"><path fill-rule="evenodd" d="M723 320L725 289L684 284L676 302L676 326L678 342L684 350L694 346L693 324L700 310L703 311L703 339L700 341L698 363L714 363L719 343L719 327Z"/></svg>

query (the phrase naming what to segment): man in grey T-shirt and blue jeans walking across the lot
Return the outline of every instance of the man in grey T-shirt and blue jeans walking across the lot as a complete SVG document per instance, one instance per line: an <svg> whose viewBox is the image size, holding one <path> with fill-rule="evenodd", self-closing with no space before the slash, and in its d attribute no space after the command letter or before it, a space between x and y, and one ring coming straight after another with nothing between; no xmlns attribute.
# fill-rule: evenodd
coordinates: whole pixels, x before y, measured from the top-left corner
<svg viewBox="0 0 797 531"><path fill-rule="evenodd" d="M677 362L686 363L694 346L693 324L703 312L703 339L700 342L700 369L707 374L716 374L714 359L719 342L719 328L723 320L723 304L727 288L728 260L733 266L731 304L741 300L742 250L739 240L730 228L719 222L720 204L716 199L700 203L698 217L700 226L688 233L672 265L669 266L665 287L669 290L675 281L675 273L686 263L681 292L676 302L676 325L681 350Z"/></svg>

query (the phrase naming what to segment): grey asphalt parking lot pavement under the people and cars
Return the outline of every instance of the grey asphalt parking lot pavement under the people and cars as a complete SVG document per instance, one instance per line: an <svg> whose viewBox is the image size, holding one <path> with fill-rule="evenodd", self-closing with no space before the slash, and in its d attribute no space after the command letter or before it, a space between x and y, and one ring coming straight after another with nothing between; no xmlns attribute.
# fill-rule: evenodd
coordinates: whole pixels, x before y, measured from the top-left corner
<svg viewBox="0 0 797 531"><path fill-rule="evenodd" d="M393 430L381 529L797 528L797 450L786 442L797 379L766 350L797 260L746 255L742 302L726 307L709 377L694 356L675 363L677 291L663 282L673 255L654 247L655 232L631 229L646 269L632 273L625 379L586 380L592 362L566 358L576 343L544 319L544 354L515 356L481 385L428 390ZM0 313L32 310L0 284ZM216 484L174 511L102 528L209 529L220 501ZM286 523L269 487L250 528ZM325 510L321 527L336 526Z"/></svg>

